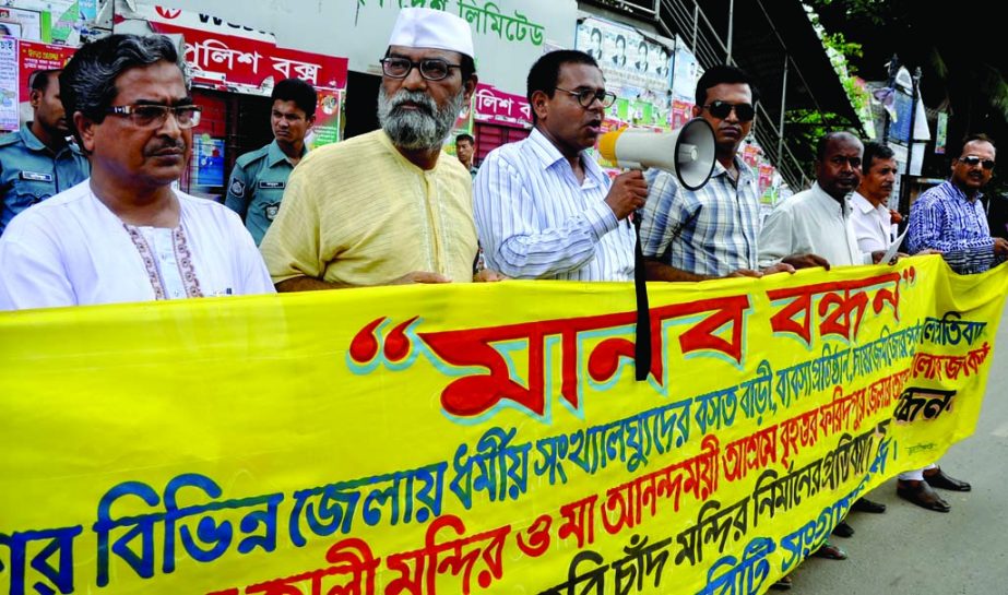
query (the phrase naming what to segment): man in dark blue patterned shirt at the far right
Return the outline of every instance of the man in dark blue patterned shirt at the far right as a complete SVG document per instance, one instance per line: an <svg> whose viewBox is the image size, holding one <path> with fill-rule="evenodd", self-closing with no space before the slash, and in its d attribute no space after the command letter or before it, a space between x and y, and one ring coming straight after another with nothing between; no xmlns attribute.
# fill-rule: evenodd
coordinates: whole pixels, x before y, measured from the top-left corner
<svg viewBox="0 0 1008 595"><path fill-rule="evenodd" d="M952 175L917 197L910 207L906 247L941 252L959 274L982 273L1008 258L1008 240L991 237L981 190L994 175L996 148L985 134L967 136Z"/></svg>

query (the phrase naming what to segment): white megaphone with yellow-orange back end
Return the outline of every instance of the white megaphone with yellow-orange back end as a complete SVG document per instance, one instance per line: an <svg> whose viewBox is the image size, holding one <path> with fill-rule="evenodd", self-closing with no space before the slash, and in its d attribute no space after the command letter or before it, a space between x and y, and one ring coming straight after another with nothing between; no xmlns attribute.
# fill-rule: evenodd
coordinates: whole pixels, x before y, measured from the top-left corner
<svg viewBox="0 0 1008 595"><path fill-rule="evenodd" d="M609 162L630 169L664 169L689 190L702 188L711 178L714 148L714 129L703 118L672 132L621 128L598 139L598 152Z"/></svg>

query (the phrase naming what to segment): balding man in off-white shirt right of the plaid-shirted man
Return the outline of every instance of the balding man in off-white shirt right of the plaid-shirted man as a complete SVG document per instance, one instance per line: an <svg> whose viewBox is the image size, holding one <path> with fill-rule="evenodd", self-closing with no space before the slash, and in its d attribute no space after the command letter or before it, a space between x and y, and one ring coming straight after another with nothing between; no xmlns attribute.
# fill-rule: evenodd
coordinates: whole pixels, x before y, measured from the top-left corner
<svg viewBox="0 0 1008 595"><path fill-rule="evenodd" d="M770 266L788 254L811 252L830 265L871 264L857 247L847 195L861 183L864 145L849 132L830 132L816 145L816 183L787 199L767 217L759 261ZM878 253L881 255L881 252Z"/></svg>

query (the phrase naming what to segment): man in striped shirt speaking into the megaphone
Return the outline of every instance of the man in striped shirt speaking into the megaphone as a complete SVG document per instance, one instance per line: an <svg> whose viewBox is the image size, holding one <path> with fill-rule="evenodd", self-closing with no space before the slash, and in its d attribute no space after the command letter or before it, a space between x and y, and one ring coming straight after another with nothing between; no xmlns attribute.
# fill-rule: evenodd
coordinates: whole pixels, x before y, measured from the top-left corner
<svg viewBox="0 0 1008 595"><path fill-rule="evenodd" d="M616 99L602 70L583 51L545 53L529 73L527 97L532 133L490 152L474 182L487 265L517 278L632 281L627 217L648 186L640 171L610 183L584 154Z"/></svg>

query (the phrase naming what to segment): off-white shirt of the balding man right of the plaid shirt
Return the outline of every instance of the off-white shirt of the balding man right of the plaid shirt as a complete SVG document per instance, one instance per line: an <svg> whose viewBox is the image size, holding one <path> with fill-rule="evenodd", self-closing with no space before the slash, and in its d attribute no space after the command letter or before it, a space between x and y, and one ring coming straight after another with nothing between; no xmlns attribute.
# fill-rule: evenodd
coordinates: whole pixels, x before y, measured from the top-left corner
<svg viewBox="0 0 1008 595"><path fill-rule="evenodd" d="M759 235L760 266L808 252L835 266L871 263L871 253L857 247L847 201L837 202L818 183L779 204Z"/></svg>

